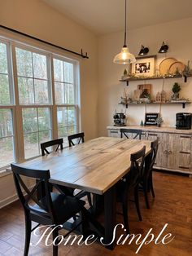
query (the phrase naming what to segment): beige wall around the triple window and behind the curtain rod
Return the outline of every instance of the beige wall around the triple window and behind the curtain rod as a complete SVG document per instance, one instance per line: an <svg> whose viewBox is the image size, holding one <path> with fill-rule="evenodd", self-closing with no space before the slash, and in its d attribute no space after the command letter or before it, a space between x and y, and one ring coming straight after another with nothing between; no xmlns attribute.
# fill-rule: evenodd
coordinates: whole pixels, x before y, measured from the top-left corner
<svg viewBox="0 0 192 256"><path fill-rule="evenodd" d="M81 61L81 126L86 140L97 137L97 38L94 33L39 0L0 0L0 24L72 51L81 52L82 48L88 52L89 60L78 59ZM14 34L11 37L14 38ZM20 40L30 42L23 37ZM76 58L76 55L70 57ZM8 201L14 199L14 192L12 176L0 177L0 207L7 203L7 198Z"/></svg>

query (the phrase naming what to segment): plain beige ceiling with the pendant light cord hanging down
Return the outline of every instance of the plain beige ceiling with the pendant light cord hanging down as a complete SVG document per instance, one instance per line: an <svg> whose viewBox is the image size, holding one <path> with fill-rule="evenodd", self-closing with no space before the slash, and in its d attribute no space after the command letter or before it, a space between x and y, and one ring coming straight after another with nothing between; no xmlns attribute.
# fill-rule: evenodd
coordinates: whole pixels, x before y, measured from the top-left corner
<svg viewBox="0 0 192 256"><path fill-rule="evenodd" d="M124 0L41 0L98 35L124 29ZM128 28L192 17L191 0L127 0Z"/></svg>

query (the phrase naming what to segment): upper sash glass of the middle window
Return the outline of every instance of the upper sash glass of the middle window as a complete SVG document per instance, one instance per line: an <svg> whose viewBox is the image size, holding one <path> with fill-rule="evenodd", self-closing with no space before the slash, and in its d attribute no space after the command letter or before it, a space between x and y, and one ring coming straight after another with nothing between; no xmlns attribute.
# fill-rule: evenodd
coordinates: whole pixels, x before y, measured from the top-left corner
<svg viewBox="0 0 192 256"><path fill-rule="evenodd" d="M20 104L49 104L47 57L15 48Z"/></svg>

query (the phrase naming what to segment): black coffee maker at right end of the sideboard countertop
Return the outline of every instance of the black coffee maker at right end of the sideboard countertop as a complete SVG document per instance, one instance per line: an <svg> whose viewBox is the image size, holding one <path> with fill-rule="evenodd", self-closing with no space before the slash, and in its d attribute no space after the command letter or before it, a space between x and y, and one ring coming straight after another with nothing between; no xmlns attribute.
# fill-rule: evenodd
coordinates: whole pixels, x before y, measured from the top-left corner
<svg viewBox="0 0 192 256"><path fill-rule="evenodd" d="M191 129L192 114L191 113L177 113L176 114L176 129L190 130Z"/></svg>

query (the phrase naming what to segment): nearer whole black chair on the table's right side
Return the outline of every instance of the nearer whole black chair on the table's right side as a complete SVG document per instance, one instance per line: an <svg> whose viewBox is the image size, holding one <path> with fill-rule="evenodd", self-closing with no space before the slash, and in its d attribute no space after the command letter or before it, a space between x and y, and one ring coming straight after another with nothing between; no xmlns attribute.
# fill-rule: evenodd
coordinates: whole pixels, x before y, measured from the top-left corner
<svg viewBox="0 0 192 256"><path fill-rule="evenodd" d="M142 215L139 208L138 201L138 183L141 179L144 159L145 159L146 147L144 146L141 150L131 154L131 168L128 174L124 176L124 179L116 185L117 201L122 204L123 216L124 216L124 227L126 228L127 234L129 230L129 213L128 213L128 201L130 199L130 192L134 192L134 202L137 209L137 215L140 221L142 221Z"/></svg>

